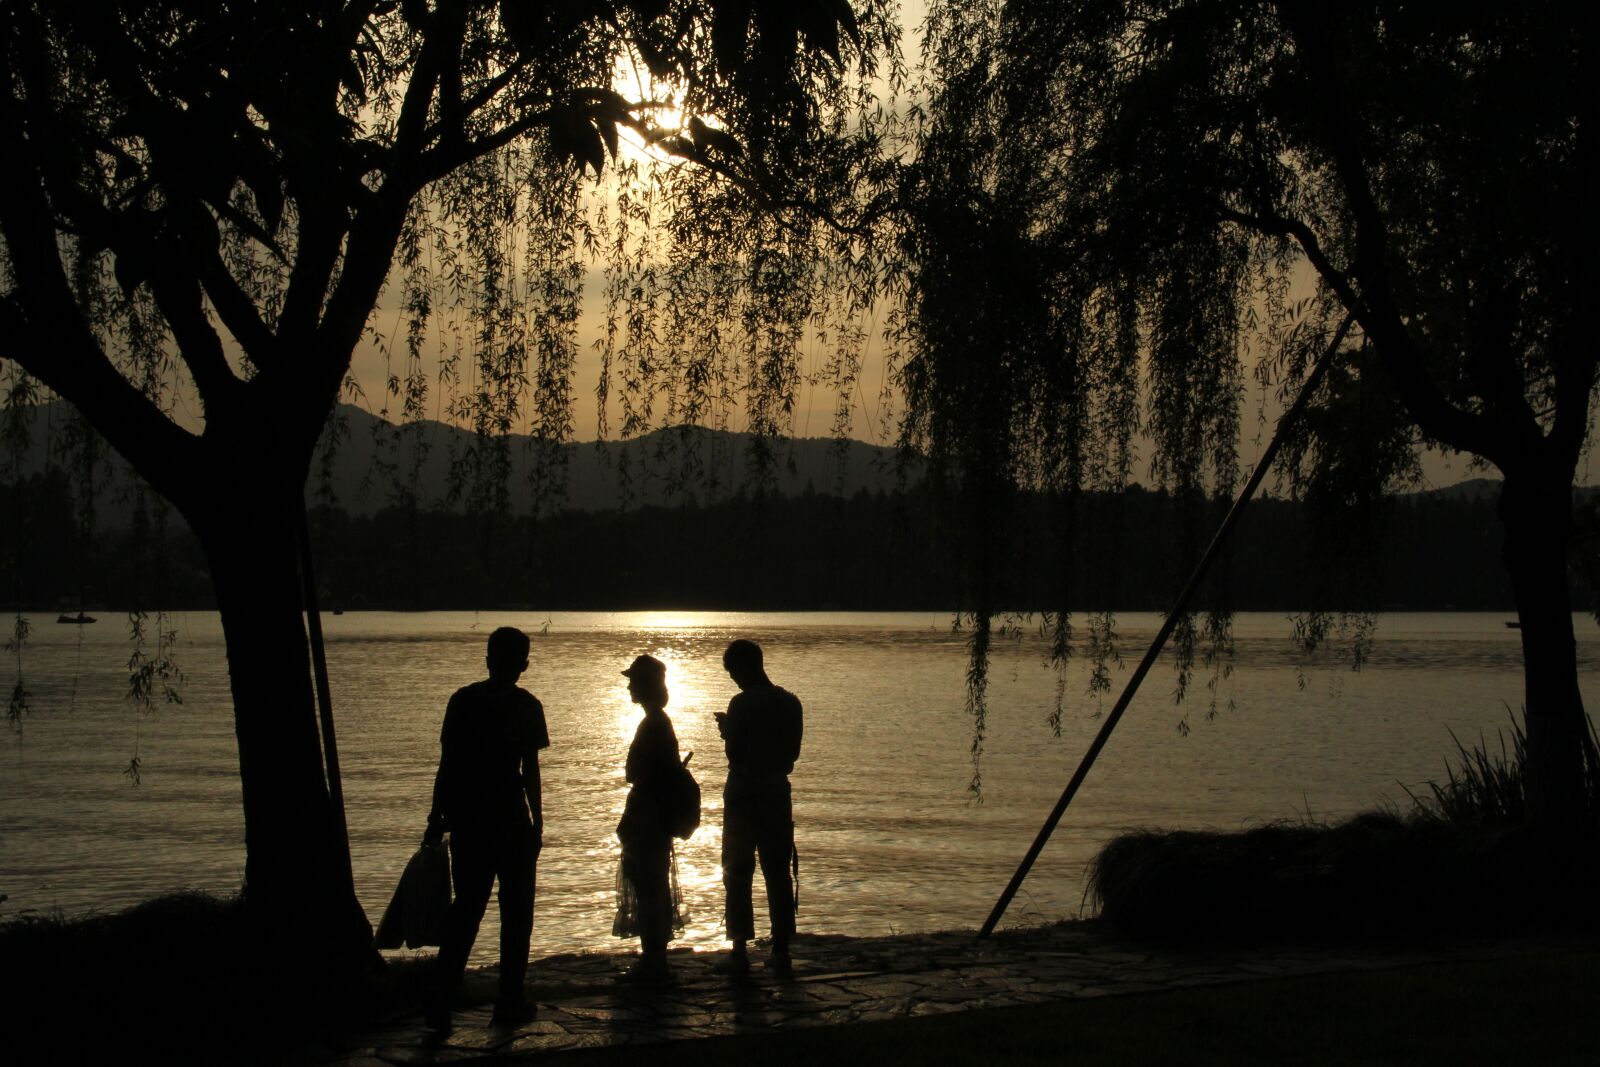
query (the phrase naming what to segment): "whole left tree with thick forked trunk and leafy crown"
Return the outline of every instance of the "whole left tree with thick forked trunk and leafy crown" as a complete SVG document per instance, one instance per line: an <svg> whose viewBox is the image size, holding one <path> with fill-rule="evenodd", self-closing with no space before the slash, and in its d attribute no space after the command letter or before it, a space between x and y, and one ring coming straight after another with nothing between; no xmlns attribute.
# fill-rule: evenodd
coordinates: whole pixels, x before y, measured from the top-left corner
<svg viewBox="0 0 1600 1067"><path fill-rule="evenodd" d="M885 6L0 5L0 360L69 400L205 549L246 901L264 921L338 950L363 933L320 757L296 525L386 285L410 325L395 392L418 402L418 334L456 299L475 360L458 414L504 432L531 379L534 427L560 440L589 195L578 176L616 160L630 130L715 174L701 198L789 195L826 216L822 179L802 178L834 158L821 147L840 112L893 53ZM448 357L437 373L462 374Z"/></svg>

